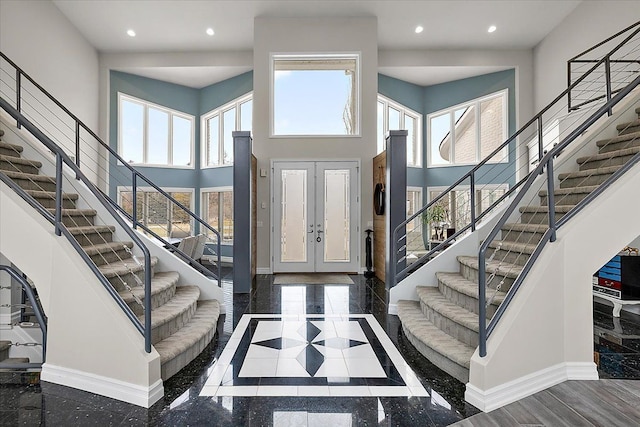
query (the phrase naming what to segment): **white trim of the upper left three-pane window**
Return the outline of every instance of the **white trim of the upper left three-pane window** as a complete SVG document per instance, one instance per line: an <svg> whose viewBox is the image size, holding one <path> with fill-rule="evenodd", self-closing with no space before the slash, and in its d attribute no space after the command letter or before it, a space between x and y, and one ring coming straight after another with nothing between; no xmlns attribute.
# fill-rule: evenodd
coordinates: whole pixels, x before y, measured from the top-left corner
<svg viewBox="0 0 640 427"><path fill-rule="evenodd" d="M129 102L133 102L136 104L140 104L143 107L143 111L144 111L144 118L143 118L143 128L142 128L142 157L146 158L147 157L147 116L148 116L148 110L149 107L155 108L157 110L161 110L164 111L165 113L169 114L169 129L168 129L168 135L169 135L169 141L168 141L168 147L167 149L169 150L169 152L167 153L168 155L168 159L170 162L173 161L173 120L171 120L171 118L173 116L177 116L180 117L182 119L185 120L189 120L189 122L191 123L191 142L190 142L190 157L189 157L189 163L191 163L191 165L173 165L173 164L157 164L157 163L128 163L131 166L138 166L138 167L149 167L149 168L168 168L168 169L195 169L196 165L195 165L195 124L196 124L196 119L195 116L192 116L190 114L187 113L183 113L182 111L178 111L178 110L173 110L171 108L167 108L165 106L162 105L158 105L158 104L154 104L153 102L149 102L149 101L145 101L144 99L140 99L140 98L136 98L134 96L131 95L127 95L125 93L122 92L118 92L118 154L120 156L122 156L122 108L120 107L122 104L122 101L126 100ZM125 159L126 160L126 159Z"/></svg>

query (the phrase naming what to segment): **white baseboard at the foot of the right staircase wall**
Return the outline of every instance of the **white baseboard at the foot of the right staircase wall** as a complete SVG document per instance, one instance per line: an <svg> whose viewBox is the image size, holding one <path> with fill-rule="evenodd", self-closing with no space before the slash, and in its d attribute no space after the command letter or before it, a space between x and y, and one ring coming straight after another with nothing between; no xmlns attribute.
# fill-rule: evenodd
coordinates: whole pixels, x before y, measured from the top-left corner
<svg viewBox="0 0 640 427"><path fill-rule="evenodd" d="M491 412L566 380L597 379L598 369L593 362L559 363L488 390L467 383L464 398L481 411Z"/></svg>

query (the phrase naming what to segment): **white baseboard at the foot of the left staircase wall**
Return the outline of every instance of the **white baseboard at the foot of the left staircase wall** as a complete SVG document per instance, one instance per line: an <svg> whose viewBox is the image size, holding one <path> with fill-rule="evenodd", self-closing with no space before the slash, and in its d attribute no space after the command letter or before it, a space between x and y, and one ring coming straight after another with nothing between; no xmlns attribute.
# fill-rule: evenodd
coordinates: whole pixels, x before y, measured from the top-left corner
<svg viewBox="0 0 640 427"><path fill-rule="evenodd" d="M144 387L101 375L51 365L49 363L42 365L40 378L42 381L100 394L111 397L112 399L142 406L143 408L149 408L164 396L162 380L156 381L149 387Z"/></svg>

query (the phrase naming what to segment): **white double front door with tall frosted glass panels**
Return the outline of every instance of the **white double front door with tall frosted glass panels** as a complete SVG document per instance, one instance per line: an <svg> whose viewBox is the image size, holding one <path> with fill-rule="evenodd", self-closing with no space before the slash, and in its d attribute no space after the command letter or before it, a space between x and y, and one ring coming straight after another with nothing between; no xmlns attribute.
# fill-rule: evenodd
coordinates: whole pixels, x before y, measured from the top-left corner
<svg viewBox="0 0 640 427"><path fill-rule="evenodd" d="M274 162L275 273L358 272L357 162Z"/></svg>

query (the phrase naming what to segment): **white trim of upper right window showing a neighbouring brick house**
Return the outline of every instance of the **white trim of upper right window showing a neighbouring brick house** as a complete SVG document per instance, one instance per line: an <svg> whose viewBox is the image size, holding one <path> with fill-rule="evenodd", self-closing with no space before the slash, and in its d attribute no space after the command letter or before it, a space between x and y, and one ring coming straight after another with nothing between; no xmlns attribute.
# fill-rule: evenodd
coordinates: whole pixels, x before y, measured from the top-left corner
<svg viewBox="0 0 640 427"><path fill-rule="evenodd" d="M493 92L490 93L488 95L482 96L480 98L475 98L472 100L469 100L467 102L463 102L457 105L452 105L451 107L445 108L443 110L440 111L435 111L433 113L430 113L427 115L427 167L428 168L448 168L448 167L456 167L456 166L473 166L473 165L477 165L478 163L480 163L482 161L482 159L477 159L475 162L472 163L449 163L449 164L444 164L444 165L434 165L432 164L431 161L431 130L429 129L430 123L431 123L431 118L434 116L440 116L442 114L445 113L449 113L449 116L451 117L451 129L453 129L455 127L455 123L453 120L453 115L451 114L452 111L455 111L457 109L460 109L462 107L467 107L467 106L471 106L471 105L480 105L480 103L482 103L483 101L486 101L488 99L491 98L497 98L502 96L504 98L504 110L503 110L503 120L502 120L502 132L503 135L505 136L504 141L507 140L509 135L509 89L502 89L499 90L497 92ZM476 112L476 156L479 157L480 153L481 153L481 146L480 146L480 120L478 119L478 115L480 114L480 108L476 108L475 109ZM502 141L500 144L504 143L504 141ZM451 144L453 147L453 150L455 150L455 143ZM508 149L508 147L507 147ZM508 153L508 151L507 151ZM476 157L476 158L477 158ZM452 156L453 158L453 156ZM487 162L488 164L499 164L499 163L509 163L509 159L507 156L506 160L500 160L499 162Z"/></svg>

